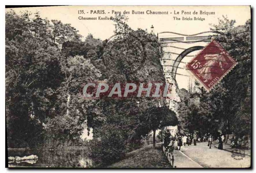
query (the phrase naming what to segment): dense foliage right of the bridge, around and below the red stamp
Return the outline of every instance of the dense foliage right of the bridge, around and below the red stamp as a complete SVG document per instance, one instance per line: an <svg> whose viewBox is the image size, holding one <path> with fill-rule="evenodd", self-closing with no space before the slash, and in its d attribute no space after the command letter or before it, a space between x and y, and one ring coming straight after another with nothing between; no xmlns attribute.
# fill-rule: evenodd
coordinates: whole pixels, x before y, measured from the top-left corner
<svg viewBox="0 0 256 173"><path fill-rule="evenodd" d="M230 73L210 92L180 90L180 122L184 129L210 132L216 137L234 133L238 137L251 134L251 20L234 27L227 17L212 25L217 40L238 61ZM199 88L198 83L196 88ZM183 93L183 94L182 94Z"/></svg>

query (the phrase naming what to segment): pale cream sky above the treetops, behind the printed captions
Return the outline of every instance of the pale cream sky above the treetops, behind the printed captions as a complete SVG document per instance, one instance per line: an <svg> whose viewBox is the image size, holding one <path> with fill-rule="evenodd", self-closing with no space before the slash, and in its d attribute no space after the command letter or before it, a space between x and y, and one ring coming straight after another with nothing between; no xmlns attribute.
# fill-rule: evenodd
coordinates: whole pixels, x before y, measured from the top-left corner
<svg viewBox="0 0 256 173"><path fill-rule="evenodd" d="M6 9L6 11L9 10L11 9ZM133 29L142 28L150 31L150 27L153 25L155 33L171 31L186 35L209 31L209 24L217 24L218 18L221 18L222 15L227 15L228 19L235 19L236 26L244 25L246 20L251 18L250 6L55 6L15 8L13 10L18 14L24 10L30 12L38 11L42 18L70 23L74 28L79 30L79 34L84 38L88 34L92 34L95 38L101 40L108 39L114 35L115 26L111 20L98 20L98 18L114 17L115 13L118 12L122 14L124 12L130 12L126 16L129 18L129 26ZM103 11L105 14L102 14ZM150 11L163 12L165 14L147 14ZM200 14L200 11L204 13ZM143 12L144 14L141 14ZM198 12L198 14L195 14L195 12ZM79 20L79 17L97 18L97 20ZM180 20L177 20L177 18L174 20L174 17L180 18ZM194 20L194 17L201 17L204 20ZM191 18L193 20L185 20ZM189 60L186 57L182 61L188 62ZM180 66L182 66L182 63L180 63ZM184 77L184 80L180 78L179 81L181 83L177 80L178 85L180 85L179 88L187 89L188 79L188 77Z"/></svg>

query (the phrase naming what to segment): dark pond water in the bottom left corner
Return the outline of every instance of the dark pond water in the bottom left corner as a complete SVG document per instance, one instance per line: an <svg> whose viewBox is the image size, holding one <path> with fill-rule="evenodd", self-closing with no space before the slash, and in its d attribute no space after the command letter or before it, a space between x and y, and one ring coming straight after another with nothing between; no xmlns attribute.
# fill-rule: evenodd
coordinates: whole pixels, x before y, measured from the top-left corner
<svg viewBox="0 0 256 173"><path fill-rule="evenodd" d="M68 167L68 168L90 168L90 159L86 150L8 150L8 157L37 155L36 160L9 161L9 165L25 167Z"/></svg>

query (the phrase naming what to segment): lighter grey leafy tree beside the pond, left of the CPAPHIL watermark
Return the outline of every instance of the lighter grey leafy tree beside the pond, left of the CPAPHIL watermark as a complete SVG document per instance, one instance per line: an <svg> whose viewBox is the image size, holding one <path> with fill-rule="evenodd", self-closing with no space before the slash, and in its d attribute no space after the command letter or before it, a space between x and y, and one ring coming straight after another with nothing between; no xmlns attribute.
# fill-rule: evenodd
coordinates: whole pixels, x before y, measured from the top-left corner
<svg viewBox="0 0 256 173"><path fill-rule="evenodd" d="M85 110L91 106L92 100L83 98L84 83L97 80L101 74L89 59L83 56L68 57L61 61L61 75L63 81L55 91L58 102L55 103L55 117L46 122L45 135L51 143L75 145L81 140L80 136L86 120ZM54 132L57 132L54 134ZM53 137L53 134L55 137ZM45 140L47 140L47 138Z"/></svg>

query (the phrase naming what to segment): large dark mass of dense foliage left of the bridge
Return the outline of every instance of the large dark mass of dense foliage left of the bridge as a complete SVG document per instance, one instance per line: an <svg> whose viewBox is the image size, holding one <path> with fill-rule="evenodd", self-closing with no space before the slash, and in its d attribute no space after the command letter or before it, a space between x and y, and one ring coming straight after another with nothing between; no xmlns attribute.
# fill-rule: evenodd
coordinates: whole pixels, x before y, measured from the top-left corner
<svg viewBox="0 0 256 173"><path fill-rule="evenodd" d="M84 99L84 83L165 83L156 35L132 30L117 16L116 38L101 41L38 13L6 13L6 120L8 147L83 145L93 129L92 156L101 165L138 148L143 137L177 117L164 99ZM59 48L63 43L62 49ZM86 143L88 144L88 143Z"/></svg>

